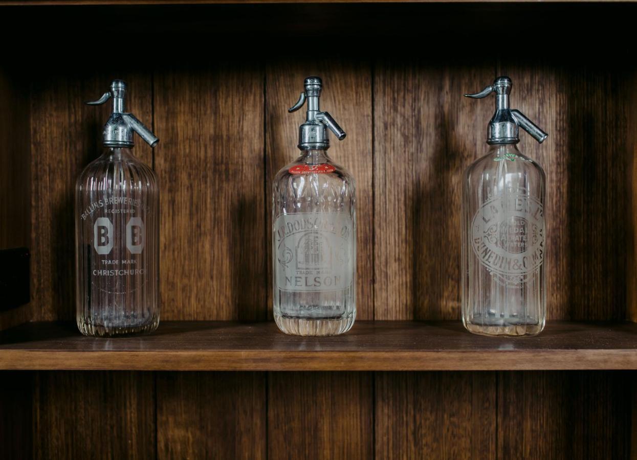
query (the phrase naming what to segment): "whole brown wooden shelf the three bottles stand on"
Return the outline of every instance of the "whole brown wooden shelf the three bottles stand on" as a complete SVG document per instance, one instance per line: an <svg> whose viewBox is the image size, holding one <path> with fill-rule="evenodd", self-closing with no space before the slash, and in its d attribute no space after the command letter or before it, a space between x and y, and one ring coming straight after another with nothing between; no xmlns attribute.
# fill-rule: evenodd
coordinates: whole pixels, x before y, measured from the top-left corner
<svg viewBox="0 0 637 460"><path fill-rule="evenodd" d="M534 338L478 337L459 321L357 321L338 337L274 323L166 321L152 335L83 337L71 323L0 333L2 370L637 369L637 324L548 323Z"/></svg>

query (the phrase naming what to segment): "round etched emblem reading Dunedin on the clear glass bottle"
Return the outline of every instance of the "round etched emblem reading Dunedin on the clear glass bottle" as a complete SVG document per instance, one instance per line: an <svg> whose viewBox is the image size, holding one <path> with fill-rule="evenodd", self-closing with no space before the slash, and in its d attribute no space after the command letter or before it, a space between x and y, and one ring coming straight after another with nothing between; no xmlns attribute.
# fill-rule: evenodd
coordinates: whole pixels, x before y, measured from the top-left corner
<svg viewBox="0 0 637 460"><path fill-rule="evenodd" d="M544 211L539 200L519 189L485 202L471 221L471 246L492 274L505 282L526 281L544 260Z"/></svg>

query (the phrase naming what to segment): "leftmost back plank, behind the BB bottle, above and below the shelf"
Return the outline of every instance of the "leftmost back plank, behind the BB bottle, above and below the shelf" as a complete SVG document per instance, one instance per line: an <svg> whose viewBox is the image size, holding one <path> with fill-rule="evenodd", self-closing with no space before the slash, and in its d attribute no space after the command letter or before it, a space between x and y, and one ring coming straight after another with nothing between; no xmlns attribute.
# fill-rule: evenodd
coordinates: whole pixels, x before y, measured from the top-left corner
<svg viewBox="0 0 637 460"><path fill-rule="evenodd" d="M127 109L152 126L150 74L109 71L52 69L31 82L31 319L75 317L75 180L102 153L110 115L108 104L83 102L103 94L113 76L123 78ZM139 138L133 152L152 165L152 151ZM152 375L41 373L34 387L35 457L155 457Z"/></svg>

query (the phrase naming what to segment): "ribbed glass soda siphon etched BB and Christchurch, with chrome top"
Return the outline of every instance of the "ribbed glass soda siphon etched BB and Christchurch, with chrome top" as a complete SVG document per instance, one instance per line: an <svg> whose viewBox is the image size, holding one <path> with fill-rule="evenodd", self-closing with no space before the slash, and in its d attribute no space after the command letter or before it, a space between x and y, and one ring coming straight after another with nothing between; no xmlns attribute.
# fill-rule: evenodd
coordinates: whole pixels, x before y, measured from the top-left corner
<svg viewBox="0 0 637 460"><path fill-rule="evenodd" d="M84 335L110 337L154 331L159 324L159 190L155 173L132 155L133 132L154 147L159 139L124 109L126 85L90 105L113 99L104 151L76 183L76 319Z"/></svg>

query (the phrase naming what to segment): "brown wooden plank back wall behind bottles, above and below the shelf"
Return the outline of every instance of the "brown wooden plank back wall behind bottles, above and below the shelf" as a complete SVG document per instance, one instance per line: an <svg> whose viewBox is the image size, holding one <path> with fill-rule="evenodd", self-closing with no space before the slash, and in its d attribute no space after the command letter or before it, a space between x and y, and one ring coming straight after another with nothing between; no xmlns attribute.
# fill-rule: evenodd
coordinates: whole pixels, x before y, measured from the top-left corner
<svg viewBox="0 0 637 460"><path fill-rule="evenodd" d="M357 179L359 319L459 319L461 172L485 151L493 108L461 94L496 71L513 78L513 105L550 135L538 146L522 134L520 144L547 170L548 316L626 317L622 197L632 151L613 133L627 130L629 76L550 61L289 62L176 60L122 73L52 71L32 83L33 319L74 318L73 185L99 152L108 115L82 101L115 77L129 81L131 110L161 139L154 151L138 142L136 152L162 186L162 319L271 317L269 188L297 155L302 115L287 108L309 74L324 78L323 107L348 132L331 153ZM84 437L104 420L103 429L136 434L127 449L141 458L384 459L626 457L624 379L41 372L27 380L40 455L119 456L112 440Z"/></svg>

